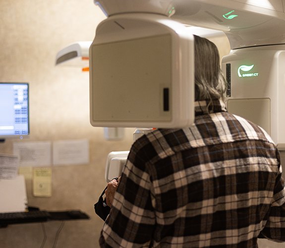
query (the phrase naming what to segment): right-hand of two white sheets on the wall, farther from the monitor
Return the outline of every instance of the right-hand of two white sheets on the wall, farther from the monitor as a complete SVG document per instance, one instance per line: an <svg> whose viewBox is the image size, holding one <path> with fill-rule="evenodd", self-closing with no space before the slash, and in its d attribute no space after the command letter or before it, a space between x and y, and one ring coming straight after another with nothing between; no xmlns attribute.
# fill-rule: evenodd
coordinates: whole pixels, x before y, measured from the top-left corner
<svg viewBox="0 0 285 248"><path fill-rule="evenodd" d="M53 143L54 165L89 164L87 139L58 140Z"/></svg>

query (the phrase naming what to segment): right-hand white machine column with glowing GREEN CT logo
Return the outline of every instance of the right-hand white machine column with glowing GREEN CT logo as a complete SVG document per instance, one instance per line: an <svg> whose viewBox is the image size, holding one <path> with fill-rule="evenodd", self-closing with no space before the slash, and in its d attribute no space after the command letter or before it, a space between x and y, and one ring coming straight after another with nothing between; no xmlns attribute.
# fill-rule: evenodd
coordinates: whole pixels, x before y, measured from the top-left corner
<svg viewBox="0 0 285 248"><path fill-rule="evenodd" d="M233 50L222 70L228 112L260 125L285 149L285 45Z"/></svg>

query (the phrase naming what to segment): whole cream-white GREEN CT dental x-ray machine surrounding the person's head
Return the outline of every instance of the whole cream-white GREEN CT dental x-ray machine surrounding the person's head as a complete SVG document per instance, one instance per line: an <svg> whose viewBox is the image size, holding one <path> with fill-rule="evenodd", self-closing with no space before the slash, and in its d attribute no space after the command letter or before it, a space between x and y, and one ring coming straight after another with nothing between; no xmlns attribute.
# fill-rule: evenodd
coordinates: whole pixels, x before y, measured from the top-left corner
<svg viewBox="0 0 285 248"><path fill-rule="evenodd" d="M194 45L185 25L223 31L228 111L285 150L285 0L95 0L108 18L90 46L94 126L194 121ZM195 34L195 33L194 33ZM108 176L107 176L108 178Z"/></svg>

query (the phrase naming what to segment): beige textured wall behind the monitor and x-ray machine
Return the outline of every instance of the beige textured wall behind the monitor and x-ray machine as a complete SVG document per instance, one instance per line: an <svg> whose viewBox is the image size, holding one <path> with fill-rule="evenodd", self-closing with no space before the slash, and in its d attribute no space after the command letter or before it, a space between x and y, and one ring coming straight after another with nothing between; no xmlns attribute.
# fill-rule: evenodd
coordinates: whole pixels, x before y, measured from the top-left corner
<svg viewBox="0 0 285 248"><path fill-rule="evenodd" d="M53 167L52 197L34 197L26 180L28 203L43 210L81 209L90 220L65 222L58 248L98 247L103 221L93 204L105 187L107 154L128 150L132 128L122 141L106 141L103 128L89 124L89 75L80 68L56 67L57 52L75 41L91 41L105 18L93 0L1 0L0 81L30 83L30 141L87 138L90 164ZM226 38L213 39L221 57L229 52ZM27 140L25 140L27 141ZM17 141L18 142L18 141ZM11 154L13 141L0 144ZM53 247L61 222L11 225L0 229L1 248Z"/></svg>

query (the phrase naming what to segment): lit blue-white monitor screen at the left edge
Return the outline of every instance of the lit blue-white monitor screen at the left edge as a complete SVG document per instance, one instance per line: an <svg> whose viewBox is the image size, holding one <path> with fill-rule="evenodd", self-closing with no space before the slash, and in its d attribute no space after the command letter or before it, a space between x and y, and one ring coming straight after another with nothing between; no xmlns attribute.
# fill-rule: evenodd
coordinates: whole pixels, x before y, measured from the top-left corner
<svg viewBox="0 0 285 248"><path fill-rule="evenodd" d="M0 139L29 135L29 84L0 82Z"/></svg>

